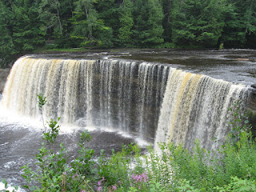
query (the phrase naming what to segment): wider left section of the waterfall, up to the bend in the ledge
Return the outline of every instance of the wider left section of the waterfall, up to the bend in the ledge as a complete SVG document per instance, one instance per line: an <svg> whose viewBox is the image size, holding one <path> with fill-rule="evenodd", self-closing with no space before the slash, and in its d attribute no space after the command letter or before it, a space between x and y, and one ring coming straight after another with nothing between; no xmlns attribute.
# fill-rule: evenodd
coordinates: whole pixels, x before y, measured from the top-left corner
<svg viewBox="0 0 256 192"><path fill-rule="evenodd" d="M20 58L2 106L37 118L42 93L46 118L122 130L153 142L168 70L152 63Z"/></svg>

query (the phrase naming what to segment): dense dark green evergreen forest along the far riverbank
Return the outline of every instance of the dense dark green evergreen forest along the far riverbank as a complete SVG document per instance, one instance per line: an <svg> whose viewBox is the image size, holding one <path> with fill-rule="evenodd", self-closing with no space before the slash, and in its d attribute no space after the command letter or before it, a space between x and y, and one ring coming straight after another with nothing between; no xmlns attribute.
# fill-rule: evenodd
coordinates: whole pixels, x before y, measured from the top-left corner
<svg viewBox="0 0 256 192"><path fill-rule="evenodd" d="M1 0L0 58L45 45L255 48L256 0Z"/></svg>

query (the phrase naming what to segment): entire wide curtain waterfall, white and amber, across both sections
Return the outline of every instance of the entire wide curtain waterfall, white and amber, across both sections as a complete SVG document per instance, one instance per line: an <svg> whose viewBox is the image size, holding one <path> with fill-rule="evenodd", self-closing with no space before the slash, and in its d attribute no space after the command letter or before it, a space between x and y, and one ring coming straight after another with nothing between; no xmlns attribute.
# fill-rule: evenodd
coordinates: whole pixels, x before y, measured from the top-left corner
<svg viewBox="0 0 256 192"><path fill-rule="evenodd" d="M1 106L39 117L37 94L47 98L46 118L121 130L154 142L199 139L206 149L229 131L230 107L249 97L246 86L169 65L118 60L19 58Z"/></svg>

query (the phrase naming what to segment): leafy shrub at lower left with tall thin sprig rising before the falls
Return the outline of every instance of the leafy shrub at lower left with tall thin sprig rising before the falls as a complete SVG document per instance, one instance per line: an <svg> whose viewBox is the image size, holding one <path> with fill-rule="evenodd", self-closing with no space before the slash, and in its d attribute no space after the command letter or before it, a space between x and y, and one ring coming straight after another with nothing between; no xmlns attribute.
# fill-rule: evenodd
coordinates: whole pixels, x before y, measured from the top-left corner
<svg viewBox="0 0 256 192"><path fill-rule="evenodd" d="M38 106L41 111L45 104L46 97L38 94ZM30 165L22 166L22 177L26 179L26 186L23 187L30 191L92 190L90 181L86 177L92 173L90 170L94 166L94 162L91 162L94 151L85 148L85 142L90 141L90 135L87 132L80 135L80 142L78 142L80 155L69 165L69 157L62 143L58 152L55 153L51 149L58 136L58 121L51 119L48 123L50 131L43 132L42 139L49 144L49 149L46 148L45 143L42 143L39 153L35 154L37 170L32 170Z"/></svg>

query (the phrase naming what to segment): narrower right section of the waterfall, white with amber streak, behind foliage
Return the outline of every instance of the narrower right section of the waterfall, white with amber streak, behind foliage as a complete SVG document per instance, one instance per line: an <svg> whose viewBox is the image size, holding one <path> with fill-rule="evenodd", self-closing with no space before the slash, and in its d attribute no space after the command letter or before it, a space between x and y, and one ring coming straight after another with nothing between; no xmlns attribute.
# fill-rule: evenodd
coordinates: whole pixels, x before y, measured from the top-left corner
<svg viewBox="0 0 256 192"><path fill-rule="evenodd" d="M222 143L230 130L232 117L229 109L247 98L246 86L171 70L162 101L155 148L159 150L158 142L172 141L191 149L198 139L202 147L213 150L218 147L214 140Z"/></svg>

